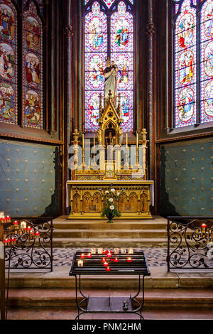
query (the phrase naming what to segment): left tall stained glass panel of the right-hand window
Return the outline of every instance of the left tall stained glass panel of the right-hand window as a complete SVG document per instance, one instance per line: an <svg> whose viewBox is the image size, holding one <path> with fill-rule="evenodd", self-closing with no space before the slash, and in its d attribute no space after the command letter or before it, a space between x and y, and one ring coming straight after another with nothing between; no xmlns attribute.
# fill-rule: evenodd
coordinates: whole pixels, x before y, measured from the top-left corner
<svg viewBox="0 0 213 334"><path fill-rule="evenodd" d="M196 10L182 3L175 23L175 126L195 124L196 113Z"/></svg>

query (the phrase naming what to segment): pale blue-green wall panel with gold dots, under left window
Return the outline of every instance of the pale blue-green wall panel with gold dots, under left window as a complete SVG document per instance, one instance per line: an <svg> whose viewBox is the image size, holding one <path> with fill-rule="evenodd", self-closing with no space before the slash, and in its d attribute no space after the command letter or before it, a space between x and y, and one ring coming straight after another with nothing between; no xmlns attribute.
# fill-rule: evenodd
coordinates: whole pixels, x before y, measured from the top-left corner
<svg viewBox="0 0 213 334"><path fill-rule="evenodd" d="M0 211L58 215L58 147L0 140Z"/></svg>

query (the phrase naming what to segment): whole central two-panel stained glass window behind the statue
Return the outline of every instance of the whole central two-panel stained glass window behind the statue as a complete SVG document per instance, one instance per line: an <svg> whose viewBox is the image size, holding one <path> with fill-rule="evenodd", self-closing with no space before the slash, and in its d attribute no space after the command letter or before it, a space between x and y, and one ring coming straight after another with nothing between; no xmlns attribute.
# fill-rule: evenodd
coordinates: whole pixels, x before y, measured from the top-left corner
<svg viewBox="0 0 213 334"><path fill-rule="evenodd" d="M85 131L98 129L99 94L104 99L107 57L118 66L124 131L133 131L133 0L85 0ZM119 94L118 94L119 95Z"/></svg>

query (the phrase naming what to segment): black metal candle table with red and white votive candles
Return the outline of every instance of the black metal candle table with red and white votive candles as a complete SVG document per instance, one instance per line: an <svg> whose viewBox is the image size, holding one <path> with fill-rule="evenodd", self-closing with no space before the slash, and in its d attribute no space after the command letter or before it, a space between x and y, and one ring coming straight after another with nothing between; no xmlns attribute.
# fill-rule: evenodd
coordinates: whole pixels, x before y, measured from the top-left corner
<svg viewBox="0 0 213 334"><path fill-rule="evenodd" d="M143 319L141 314L144 303L144 277L150 276L146 255L143 252L135 252L134 254L92 254L87 257L89 253L76 252L72 259L72 266L70 269L70 276L75 276L75 296L78 308L78 314L75 320L80 319L80 315L84 313L136 313ZM102 259L105 258L108 262L104 266ZM130 259L129 259L130 258ZM117 260L116 260L117 259ZM78 261L83 261L83 266L78 266ZM129 260L129 261L128 261ZM129 297L92 297L85 296L81 289L82 275L137 275L138 276L138 292L135 296ZM79 287L77 287L77 276L79 276ZM142 276L142 300L138 301L136 298L141 292L141 276ZM81 296L81 301L78 300L78 288Z"/></svg>

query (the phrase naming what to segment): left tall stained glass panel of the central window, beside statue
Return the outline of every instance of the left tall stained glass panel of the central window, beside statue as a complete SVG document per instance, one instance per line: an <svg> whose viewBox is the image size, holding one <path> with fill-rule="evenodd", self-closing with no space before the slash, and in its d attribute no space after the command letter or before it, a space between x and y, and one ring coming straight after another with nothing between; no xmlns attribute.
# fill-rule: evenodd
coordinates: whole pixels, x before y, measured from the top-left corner
<svg viewBox="0 0 213 334"><path fill-rule="evenodd" d="M85 16L85 131L97 131L99 94L104 95L104 68L107 59L107 16L94 1Z"/></svg>

